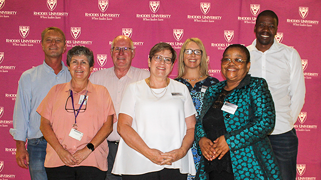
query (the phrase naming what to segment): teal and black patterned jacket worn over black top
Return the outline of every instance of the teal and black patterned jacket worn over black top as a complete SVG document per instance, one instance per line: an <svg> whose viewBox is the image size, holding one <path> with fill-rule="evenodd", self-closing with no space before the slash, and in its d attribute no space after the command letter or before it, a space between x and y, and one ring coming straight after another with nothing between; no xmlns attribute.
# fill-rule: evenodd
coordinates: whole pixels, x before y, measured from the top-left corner
<svg viewBox="0 0 321 180"><path fill-rule="evenodd" d="M204 114L225 85L226 80L209 87L205 92L203 108L195 128L195 140L200 154L198 142L201 137L206 136L202 125ZM246 75L224 100L238 105L234 114L223 111L227 130L224 136L230 147L234 178L282 179L267 137L275 125L275 109L265 79ZM208 178L204 171L203 155L202 159L196 179Z"/></svg>

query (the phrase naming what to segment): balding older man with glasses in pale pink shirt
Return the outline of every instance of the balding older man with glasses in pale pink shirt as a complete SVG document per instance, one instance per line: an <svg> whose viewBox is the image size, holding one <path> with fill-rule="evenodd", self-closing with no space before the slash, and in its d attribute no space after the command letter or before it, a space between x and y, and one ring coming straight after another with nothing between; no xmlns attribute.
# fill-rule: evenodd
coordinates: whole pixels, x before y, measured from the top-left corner
<svg viewBox="0 0 321 180"><path fill-rule="evenodd" d="M114 66L92 73L89 79L92 83L103 85L107 88L118 118L119 105L125 88L131 82L149 77L149 71L131 66L131 60L135 56L135 49L132 40L127 36L119 35L114 38L110 48L110 55ZM119 139L117 122L115 122L113 131L107 137L109 154L106 180L121 179L121 176L111 174Z"/></svg>

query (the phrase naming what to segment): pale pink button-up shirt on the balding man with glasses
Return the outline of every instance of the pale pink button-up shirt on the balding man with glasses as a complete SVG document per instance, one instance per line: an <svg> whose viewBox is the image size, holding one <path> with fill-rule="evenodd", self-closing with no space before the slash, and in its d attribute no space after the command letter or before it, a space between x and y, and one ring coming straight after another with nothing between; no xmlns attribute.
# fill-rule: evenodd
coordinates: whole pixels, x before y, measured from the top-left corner
<svg viewBox="0 0 321 180"><path fill-rule="evenodd" d="M147 77L149 77L149 71L131 66L126 75L120 79L116 76L114 67L98 70L92 73L89 79L93 84L103 85L107 88L114 103L118 119L119 105L127 85ZM117 122L115 122L113 124L113 131L109 134L107 140L116 141L119 139L120 135L117 132Z"/></svg>

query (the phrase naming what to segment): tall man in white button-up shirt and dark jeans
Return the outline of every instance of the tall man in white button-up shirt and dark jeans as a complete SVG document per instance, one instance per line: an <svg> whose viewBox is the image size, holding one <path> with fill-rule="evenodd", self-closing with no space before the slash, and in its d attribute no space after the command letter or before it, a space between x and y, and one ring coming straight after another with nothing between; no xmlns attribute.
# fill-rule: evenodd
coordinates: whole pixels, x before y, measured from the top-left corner
<svg viewBox="0 0 321 180"><path fill-rule="evenodd" d="M273 132L268 136L283 179L295 179L298 139L294 123L305 97L304 75L298 52L274 38L278 17L271 10L256 19L256 39L247 48L251 55L250 74L266 79L276 113Z"/></svg>

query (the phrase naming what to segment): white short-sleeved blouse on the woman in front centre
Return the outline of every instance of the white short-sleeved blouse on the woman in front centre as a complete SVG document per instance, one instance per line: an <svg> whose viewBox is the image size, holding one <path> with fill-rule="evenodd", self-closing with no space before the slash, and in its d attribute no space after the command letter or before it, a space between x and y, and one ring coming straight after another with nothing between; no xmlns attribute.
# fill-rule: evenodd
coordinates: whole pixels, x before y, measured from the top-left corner
<svg viewBox="0 0 321 180"><path fill-rule="evenodd" d="M159 93L164 88L152 90ZM131 83L124 92L120 113L132 117L131 127L149 148L169 152L182 146L187 130L185 118L197 113L185 84L170 79L168 89L165 91L159 95L152 93L144 79ZM195 175L191 149L172 165L158 165L129 147L120 138L112 173L144 174L164 168L179 168L181 173Z"/></svg>

